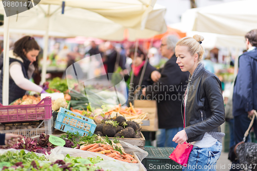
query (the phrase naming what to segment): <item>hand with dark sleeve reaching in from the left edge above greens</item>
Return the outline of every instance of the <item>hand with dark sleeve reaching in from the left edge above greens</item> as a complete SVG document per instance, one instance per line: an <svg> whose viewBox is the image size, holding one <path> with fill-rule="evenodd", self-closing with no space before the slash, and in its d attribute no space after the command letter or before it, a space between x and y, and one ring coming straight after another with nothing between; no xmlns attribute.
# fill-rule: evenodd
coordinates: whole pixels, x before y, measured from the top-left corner
<svg viewBox="0 0 257 171"><path fill-rule="evenodd" d="M0 134L0 145L13 146L17 143L18 138L23 139L23 136L16 134Z"/></svg>

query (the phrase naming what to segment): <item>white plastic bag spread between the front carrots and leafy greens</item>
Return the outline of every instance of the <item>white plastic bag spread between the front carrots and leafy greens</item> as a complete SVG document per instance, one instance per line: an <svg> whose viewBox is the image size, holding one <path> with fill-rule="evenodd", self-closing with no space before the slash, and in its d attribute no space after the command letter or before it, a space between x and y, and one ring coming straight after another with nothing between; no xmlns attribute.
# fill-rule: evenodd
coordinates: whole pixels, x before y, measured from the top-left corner
<svg viewBox="0 0 257 171"><path fill-rule="evenodd" d="M90 151L84 151L81 149L60 147L60 146L51 150L51 154L49 155L49 160L52 160L53 158L55 158L54 157L55 155L66 156L67 154L69 154L70 156L73 156L73 157L82 157L82 158L99 156L104 161L97 163L96 166L100 166L104 170L108 169L108 170L112 170L112 171L146 171L146 168L143 166L143 164L139 161L139 159L136 156L135 156L135 159L138 160L139 163L127 163L127 162L113 159L113 158L105 156L103 154L90 152ZM135 153L132 153L132 155L135 155Z"/></svg>

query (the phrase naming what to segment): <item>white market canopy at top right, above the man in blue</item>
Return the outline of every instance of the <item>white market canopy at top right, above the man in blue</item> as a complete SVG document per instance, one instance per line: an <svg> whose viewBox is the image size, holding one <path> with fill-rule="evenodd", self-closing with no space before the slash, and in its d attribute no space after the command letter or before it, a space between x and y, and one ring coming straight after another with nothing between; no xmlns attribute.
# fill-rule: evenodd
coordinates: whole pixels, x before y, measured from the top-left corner
<svg viewBox="0 0 257 171"><path fill-rule="evenodd" d="M244 36L257 29L257 1L244 0L187 10L181 22L188 31Z"/></svg>

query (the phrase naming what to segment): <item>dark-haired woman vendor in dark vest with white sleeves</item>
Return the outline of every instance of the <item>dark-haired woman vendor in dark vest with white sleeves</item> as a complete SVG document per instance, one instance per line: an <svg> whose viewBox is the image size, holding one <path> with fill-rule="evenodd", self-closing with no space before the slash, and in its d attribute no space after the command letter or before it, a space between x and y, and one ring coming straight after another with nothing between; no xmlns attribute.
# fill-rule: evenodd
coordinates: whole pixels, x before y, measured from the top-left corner
<svg viewBox="0 0 257 171"><path fill-rule="evenodd" d="M34 71L38 71L37 59L39 51L40 46L30 36L22 37L22 39L14 43L13 50L9 51L9 104L16 99L22 98L26 91L46 92L39 85L29 81ZM3 55L0 58L3 58ZM0 61L3 61L3 59ZM3 73L5 72L3 62L0 63L0 68L0 103L3 103Z"/></svg>

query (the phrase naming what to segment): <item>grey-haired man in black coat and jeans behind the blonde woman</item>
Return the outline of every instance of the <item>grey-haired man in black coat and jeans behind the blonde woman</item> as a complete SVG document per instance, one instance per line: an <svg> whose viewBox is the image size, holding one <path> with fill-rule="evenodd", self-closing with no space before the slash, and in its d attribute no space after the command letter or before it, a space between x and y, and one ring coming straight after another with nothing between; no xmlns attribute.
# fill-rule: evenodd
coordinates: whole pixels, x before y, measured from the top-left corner
<svg viewBox="0 0 257 171"><path fill-rule="evenodd" d="M176 147L172 141L178 131L183 129L181 116L182 96L187 88L189 72L182 72L176 64L176 35L168 35L161 40L161 55L168 58L163 68L151 73L155 82L142 90L146 99L157 100L159 129L156 133L158 147Z"/></svg>

